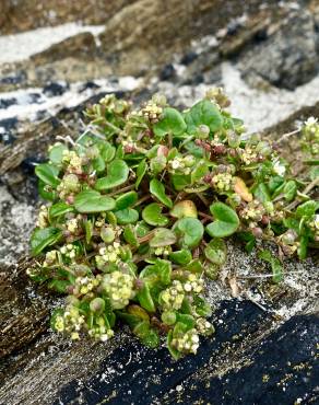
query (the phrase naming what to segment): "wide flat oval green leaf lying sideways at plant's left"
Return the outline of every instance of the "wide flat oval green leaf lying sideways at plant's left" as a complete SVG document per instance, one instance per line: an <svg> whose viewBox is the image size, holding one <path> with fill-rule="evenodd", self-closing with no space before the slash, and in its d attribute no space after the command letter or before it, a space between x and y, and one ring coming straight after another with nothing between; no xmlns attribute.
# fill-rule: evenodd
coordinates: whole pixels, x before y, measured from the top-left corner
<svg viewBox="0 0 319 405"><path fill-rule="evenodd" d="M85 189L75 196L74 207L79 212L110 211L115 208L115 200L94 189Z"/></svg>

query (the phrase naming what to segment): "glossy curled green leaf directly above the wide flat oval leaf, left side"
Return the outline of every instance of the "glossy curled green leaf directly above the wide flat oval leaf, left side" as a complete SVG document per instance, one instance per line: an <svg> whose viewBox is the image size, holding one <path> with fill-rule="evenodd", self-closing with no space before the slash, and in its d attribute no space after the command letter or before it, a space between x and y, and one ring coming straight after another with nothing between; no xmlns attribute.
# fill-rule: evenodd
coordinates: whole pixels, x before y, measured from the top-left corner
<svg viewBox="0 0 319 405"><path fill-rule="evenodd" d="M126 183L129 177L129 166L123 160L116 159L107 166L107 175L98 178L95 188L98 190L110 189Z"/></svg>

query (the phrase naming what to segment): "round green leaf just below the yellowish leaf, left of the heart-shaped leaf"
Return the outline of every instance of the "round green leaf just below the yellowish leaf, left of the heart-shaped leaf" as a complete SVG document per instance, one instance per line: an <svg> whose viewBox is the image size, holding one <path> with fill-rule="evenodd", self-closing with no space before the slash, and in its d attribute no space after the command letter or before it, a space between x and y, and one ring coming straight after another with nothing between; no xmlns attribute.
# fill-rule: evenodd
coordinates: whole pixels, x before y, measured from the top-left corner
<svg viewBox="0 0 319 405"><path fill-rule="evenodd" d="M179 239L180 247L193 248L200 244L204 228L197 218L182 218L175 223L174 231Z"/></svg>

